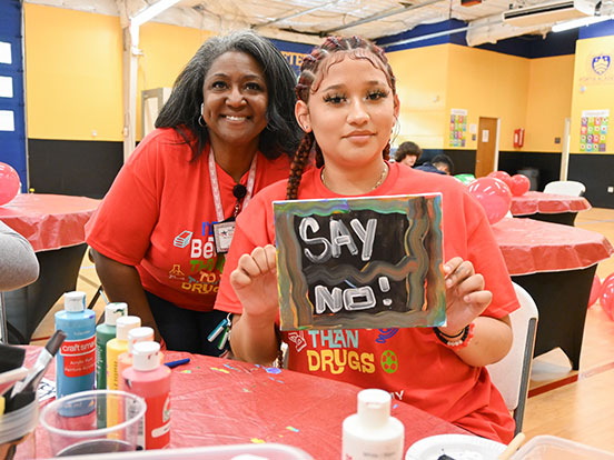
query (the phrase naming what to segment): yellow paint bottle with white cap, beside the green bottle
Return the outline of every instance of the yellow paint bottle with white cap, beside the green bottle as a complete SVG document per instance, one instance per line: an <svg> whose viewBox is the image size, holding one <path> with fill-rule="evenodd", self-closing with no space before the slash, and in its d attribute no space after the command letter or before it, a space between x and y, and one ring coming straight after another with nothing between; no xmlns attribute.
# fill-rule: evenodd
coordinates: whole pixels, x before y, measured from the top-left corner
<svg viewBox="0 0 614 460"><path fill-rule="evenodd" d="M107 388L119 389L119 374L117 373L117 359L128 350L128 332L140 327L140 318L135 316L120 317L116 320L116 338L107 342ZM121 408L116 401L107 401L107 427L119 422Z"/></svg>

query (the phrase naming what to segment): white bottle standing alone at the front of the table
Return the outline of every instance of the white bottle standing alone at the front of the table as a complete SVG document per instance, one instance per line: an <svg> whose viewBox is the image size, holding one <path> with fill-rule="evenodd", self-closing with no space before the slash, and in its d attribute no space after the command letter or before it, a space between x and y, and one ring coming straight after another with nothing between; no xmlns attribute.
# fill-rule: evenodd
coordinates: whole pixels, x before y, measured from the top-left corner
<svg viewBox="0 0 614 460"><path fill-rule="evenodd" d="M358 413L344 420L341 459L403 459L405 428L390 417L390 399L384 390L358 393Z"/></svg>

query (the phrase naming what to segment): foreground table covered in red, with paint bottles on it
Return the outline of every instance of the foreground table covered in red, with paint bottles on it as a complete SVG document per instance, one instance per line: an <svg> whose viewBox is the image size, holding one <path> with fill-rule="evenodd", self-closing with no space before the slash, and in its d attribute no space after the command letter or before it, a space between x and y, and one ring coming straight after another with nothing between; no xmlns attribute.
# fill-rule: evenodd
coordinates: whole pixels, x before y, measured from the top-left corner
<svg viewBox="0 0 614 460"><path fill-rule="evenodd" d="M27 362L33 362L36 349L29 347ZM315 459L341 457L341 423L356 413L360 388L290 370L165 352L166 361L182 358L191 361L172 370L171 448L276 442ZM46 377L53 376L55 368ZM468 433L396 400L392 414L405 424L405 450L428 436ZM46 458L47 432L40 426L36 444L37 458Z"/></svg>

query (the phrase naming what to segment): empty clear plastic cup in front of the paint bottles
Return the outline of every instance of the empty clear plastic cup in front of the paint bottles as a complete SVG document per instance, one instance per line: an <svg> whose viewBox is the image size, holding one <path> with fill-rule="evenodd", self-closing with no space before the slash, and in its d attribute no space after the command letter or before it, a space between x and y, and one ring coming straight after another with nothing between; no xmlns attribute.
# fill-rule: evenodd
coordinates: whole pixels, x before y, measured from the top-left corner
<svg viewBox="0 0 614 460"><path fill-rule="evenodd" d="M108 418L96 410L99 406L117 408L117 413ZM130 451L137 449L146 407L142 398L126 391L83 391L46 406L40 423L53 457Z"/></svg>

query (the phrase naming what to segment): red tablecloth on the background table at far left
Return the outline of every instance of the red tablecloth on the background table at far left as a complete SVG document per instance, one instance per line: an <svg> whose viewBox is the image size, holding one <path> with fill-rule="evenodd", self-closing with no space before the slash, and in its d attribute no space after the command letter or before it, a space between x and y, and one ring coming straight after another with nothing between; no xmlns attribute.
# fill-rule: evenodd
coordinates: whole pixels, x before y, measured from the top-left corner
<svg viewBox="0 0 614 460"><path fill-rule="evenodd" d="M34 251L80 244L83 226L100 200L65 194L18 194L0 207L0 220L30 241Z"/></svg>

